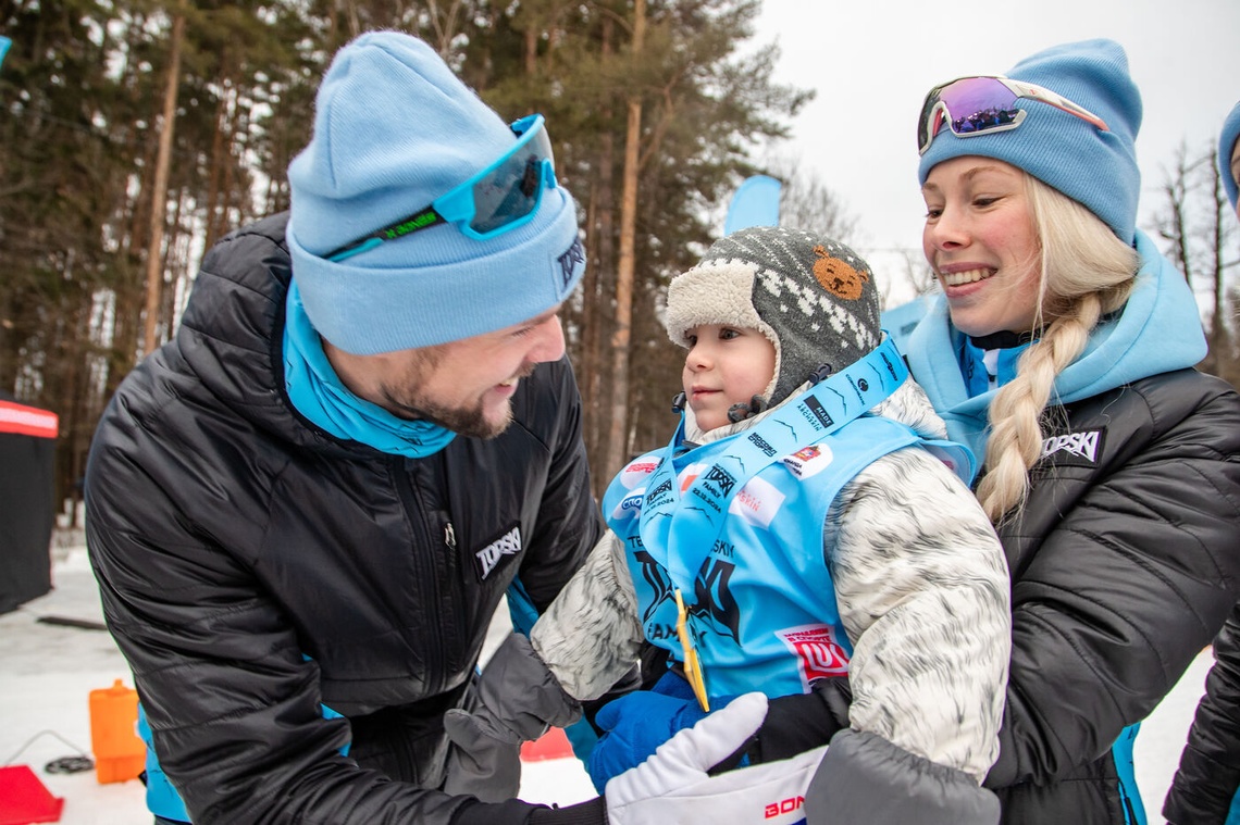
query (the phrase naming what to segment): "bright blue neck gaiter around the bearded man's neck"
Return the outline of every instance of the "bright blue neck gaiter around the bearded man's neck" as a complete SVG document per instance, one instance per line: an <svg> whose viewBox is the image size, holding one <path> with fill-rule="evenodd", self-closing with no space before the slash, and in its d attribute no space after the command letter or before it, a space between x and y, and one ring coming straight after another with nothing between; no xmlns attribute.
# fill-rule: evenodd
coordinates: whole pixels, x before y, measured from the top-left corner
<svg viewBox="0 0 1240 825"><path fill-rule="evenodd" d="M319 333L310 326L295 280L289 284L285 306L284 385L301 415L337 439L409 458L433 456L456 437L438 424L398 419L348 391L327 360Z"/></svg>

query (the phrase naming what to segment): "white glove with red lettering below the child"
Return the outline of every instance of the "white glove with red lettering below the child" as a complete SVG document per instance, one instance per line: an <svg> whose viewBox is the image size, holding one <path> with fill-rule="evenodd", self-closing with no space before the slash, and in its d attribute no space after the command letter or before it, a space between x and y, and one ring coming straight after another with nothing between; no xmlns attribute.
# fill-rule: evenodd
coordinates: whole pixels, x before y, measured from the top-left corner
<svg viewBox="0 0 1240 825"><path fill-rule="evenodd" d="M805 790L827 752L806 751L712 777L766 717L766 697L745 694L661 744L655 756L606 787L611 825L729 823L794 825L805 820Z"/></svg>

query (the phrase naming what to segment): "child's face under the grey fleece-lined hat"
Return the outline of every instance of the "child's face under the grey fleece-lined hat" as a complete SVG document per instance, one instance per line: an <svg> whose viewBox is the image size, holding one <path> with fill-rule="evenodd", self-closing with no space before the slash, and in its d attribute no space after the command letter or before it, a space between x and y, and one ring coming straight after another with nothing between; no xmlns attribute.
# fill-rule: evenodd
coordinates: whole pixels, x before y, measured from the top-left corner
<svg viewBox="0 0 1240 825"><path fill-rule="evenodd" d="M704 323L687 333L684 396L698 426L728 424L728 408L749 404L775 377L775 344L758 330Z"/></svg>

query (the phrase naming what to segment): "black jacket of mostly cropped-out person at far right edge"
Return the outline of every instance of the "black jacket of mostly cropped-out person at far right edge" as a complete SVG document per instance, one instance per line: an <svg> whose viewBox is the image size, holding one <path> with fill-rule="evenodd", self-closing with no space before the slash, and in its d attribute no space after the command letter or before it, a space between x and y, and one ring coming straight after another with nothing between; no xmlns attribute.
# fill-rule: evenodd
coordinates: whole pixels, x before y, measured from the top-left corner
<svg viewBox="0 0 1240 825"><path fill-rule="evenodd" d="M1163 805L1172 825L1224 825L1240 790L1240 603L1214 639L1214 666Z"/></svg>

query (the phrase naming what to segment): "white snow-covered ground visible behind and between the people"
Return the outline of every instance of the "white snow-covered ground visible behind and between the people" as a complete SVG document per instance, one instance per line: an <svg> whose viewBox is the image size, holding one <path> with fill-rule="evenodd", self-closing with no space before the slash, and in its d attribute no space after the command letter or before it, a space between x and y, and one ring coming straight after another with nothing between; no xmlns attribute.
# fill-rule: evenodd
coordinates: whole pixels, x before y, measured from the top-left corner
<svg viewBox="0 0 1240 825"><path fill-rule="evenodd" d="M107 632L38 621L103 619L86 549L69 543L53 555L52 592L0 616L0 766L29 766L53 795L64 799L60 819L64 825L149 823L144 788L136 779L99 784L93 770L45 770L61 757L89 754L92 690L109 688L117 679L133 685ZM1164 821L1162 800L1211 661L1208 650L1197 658L1137 737L1137 783L1151 825ZM527 762L521 795L565 804L589 799L594 792L580 764L569 757Z"/></svg>

